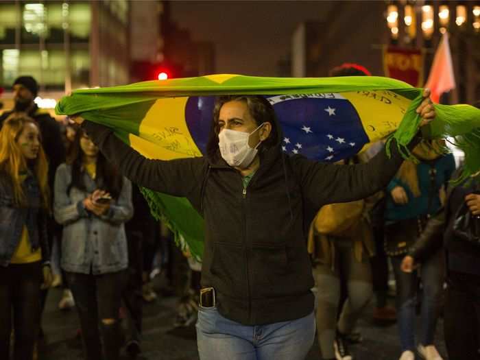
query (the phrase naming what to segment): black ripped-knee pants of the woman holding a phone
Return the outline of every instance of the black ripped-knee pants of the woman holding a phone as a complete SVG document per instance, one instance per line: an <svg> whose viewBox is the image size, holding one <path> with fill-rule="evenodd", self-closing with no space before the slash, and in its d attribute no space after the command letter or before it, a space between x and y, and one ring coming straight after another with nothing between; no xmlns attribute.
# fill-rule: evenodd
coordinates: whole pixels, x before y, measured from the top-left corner
<svg viewBox="0 0 480 360"><path fill-rule="evenodd" d="M101 275L67 272L87 360L119 359L119 309L124 276L124 271Z"/></svg>

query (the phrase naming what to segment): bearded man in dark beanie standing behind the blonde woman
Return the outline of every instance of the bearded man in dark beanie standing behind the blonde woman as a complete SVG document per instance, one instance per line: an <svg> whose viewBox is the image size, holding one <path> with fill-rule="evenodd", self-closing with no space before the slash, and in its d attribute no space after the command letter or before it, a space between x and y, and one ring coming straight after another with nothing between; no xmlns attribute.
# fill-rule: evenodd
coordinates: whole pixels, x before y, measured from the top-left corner
<svg viewBox="0 0 480 360"><path fill-rule="evenodd" d="M27 115L36 121L38 128L40 129L42 147L45 150L45 155L48 160L48 185L51 194L50 204L53 204L53 181L55 179L55 172L57 167L65 161L65 148L60 134L60 125L49 115L49 112L38 108L35 104L34 99L38 95L38 83L34 77L17 77L12 85L12 91L15 103L14 108L12 110L4 111L0 115L0 130L5 119L11 115ZM53 237L60 237L61 231L62 228L56 224L53 217L49 217L47 219L47 238L50 250L51 245L53 244ZM43 289L41 291L40 302L42 312L45 307L47 291L48 289ZM42 334L41 330L40 334Z"/></svg>

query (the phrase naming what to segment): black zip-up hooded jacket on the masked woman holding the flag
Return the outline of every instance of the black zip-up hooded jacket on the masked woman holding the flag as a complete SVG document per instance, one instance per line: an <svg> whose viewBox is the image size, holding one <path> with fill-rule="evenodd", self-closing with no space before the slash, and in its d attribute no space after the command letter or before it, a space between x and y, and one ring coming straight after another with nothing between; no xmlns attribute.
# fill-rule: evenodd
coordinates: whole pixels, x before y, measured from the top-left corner
<svg viewBox="0 0 480 360"><path fill-rule="evenodd" d="M221 315L245 325L295 320L313 311L308 226L324 204L363 199L383 189L403 159L392 143L367 164L331 165L287 156L280 139L260 154L243 192L242 177L219 152L213 158L149 160L112 130L82 127L132 182L187 197L205 220L202 286L214 287ZM412 141L412 146L418 141Z"/></svg>

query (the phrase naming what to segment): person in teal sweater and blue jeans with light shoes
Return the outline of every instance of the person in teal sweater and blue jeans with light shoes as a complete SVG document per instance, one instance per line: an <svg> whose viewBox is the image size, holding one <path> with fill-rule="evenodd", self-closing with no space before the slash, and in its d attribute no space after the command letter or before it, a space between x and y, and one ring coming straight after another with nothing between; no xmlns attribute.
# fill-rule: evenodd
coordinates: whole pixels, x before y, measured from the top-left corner
<svg viewBox="0 0 480 360"><path fill-rule="evenodd" d="M442 206L442 192L455 171L452 154L441 154L441 143L420 144L413 149L420 163L406 160L387 190L385 211L385 251L392 260L396 280L396 308L402 350L401 360L414 359L417 271L400 270L403 256L415 243L428 219ZM418 352L427 360L440 360L433 337L439 315L444 283L444 259L441 252L425 261L420 269L422 280L422 331Z"/></svg>

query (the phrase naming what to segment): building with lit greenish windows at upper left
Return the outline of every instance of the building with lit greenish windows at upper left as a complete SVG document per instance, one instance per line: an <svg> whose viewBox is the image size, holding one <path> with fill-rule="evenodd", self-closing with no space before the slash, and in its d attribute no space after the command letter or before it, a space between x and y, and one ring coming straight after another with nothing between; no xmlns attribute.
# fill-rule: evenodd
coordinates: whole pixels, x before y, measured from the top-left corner
<svg viewBox="0 0 480 360"><path fill-rule="evenodd" d="M4 108L19 75L32 75L39 95L58 99L75 88L130 81L127 0L1 1L0 87ZM50 103L51 104L51 103Z"/></svg>

